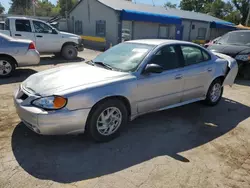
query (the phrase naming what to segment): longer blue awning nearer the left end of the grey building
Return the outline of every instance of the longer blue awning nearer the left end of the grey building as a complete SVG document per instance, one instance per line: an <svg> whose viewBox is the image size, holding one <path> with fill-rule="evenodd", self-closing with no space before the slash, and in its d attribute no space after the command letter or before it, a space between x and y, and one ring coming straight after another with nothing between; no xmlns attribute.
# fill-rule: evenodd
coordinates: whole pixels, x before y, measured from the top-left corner
<svg viewBox="0 0 250 188"><path fill-rule="evenodd" d="M181 24L181 18L177 16L139 12L134 10L122 10L121 20L154 22L161 24Z"/></svg>

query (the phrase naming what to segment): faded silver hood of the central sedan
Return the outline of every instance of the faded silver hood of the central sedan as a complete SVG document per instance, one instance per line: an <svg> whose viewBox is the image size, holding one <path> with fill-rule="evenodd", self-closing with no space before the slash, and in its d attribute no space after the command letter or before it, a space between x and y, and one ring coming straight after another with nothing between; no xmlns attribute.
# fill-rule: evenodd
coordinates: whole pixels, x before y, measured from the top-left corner
<svg viewBox="0 0 250 188"><path fill-rule="evenodd" d="M48 96L76 87L87 89L90 86L105 84L126 75L129 75L129 73L81 63L33 74L22 83L22 87L30 93Z"/></svg>

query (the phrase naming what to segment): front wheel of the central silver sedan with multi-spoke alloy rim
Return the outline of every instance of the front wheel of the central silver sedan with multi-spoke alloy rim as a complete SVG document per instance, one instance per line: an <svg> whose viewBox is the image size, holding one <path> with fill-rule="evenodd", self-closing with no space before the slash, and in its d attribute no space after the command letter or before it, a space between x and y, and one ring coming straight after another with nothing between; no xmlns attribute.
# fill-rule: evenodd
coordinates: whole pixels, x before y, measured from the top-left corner
<svg viewBox="0 0 250 188"><path fill-rule="evenodd" d="M113 116L108 116L108 113ZM107 142L119 136L121 128L127 122L128 111L125 105L119 100L109 99L94 107L88 120L87 131L95 141Z"/></svg>

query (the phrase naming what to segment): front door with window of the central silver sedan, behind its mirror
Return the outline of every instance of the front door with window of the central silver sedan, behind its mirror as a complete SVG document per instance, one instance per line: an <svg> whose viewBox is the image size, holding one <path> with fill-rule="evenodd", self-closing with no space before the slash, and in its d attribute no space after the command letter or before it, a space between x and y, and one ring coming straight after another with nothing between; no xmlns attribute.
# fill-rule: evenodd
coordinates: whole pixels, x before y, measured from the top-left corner
<svg viewBox="0 0 250 188"><path fill-rule="evenodd" d="M162 66L164 71L159 74L142 74L138 78L137 105L140 114L180 102L183 80L177 52L175 46L161 48L150 63Z"/></svg>

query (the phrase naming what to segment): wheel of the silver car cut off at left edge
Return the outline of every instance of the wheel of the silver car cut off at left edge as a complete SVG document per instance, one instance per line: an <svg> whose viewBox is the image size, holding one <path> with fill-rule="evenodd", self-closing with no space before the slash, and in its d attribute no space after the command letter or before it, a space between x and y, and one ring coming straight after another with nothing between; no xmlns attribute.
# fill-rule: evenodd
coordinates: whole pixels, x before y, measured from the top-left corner
<svg viewBox="0 0 250 188"><path fill-rule="evenodd" d="M9 57L0 57L0 78L10 77L16 69L15 61Z"/></svg>

